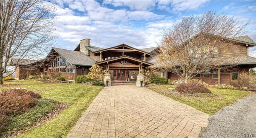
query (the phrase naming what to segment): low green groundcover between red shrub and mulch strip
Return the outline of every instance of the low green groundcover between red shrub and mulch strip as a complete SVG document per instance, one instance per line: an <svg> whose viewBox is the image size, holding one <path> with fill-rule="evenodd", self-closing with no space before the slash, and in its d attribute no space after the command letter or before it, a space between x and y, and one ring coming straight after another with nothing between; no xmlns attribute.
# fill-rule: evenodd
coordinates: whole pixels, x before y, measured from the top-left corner
<svg viewBox="0 0 256 138"><path fill-rule="evenodd" d="M6 126L6 131L3 132L2 135L28 129L28 127L32 126L38 119L41 119L44 115L52 112L53 109L56 109L58 105L59 102L56 100L45 98L37 99L36 106L29 109L28 112L7 117L8 124Z"/></svg>

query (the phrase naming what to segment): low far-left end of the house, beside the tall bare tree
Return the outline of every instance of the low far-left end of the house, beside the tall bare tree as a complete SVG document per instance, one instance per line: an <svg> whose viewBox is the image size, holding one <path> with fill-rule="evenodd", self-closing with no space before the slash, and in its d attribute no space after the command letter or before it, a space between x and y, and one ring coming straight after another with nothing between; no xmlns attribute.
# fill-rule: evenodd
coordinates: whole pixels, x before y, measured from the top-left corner
<svg viewBox="0 0 256 138"><path fill-rule="evenodd" d="M15 66L14 78L25 79L29 75L34 75L36 72L41 72L40 65L43 60L29 60L11 58L9 66ZM47 75L47 74L44 74Z"/></svg>

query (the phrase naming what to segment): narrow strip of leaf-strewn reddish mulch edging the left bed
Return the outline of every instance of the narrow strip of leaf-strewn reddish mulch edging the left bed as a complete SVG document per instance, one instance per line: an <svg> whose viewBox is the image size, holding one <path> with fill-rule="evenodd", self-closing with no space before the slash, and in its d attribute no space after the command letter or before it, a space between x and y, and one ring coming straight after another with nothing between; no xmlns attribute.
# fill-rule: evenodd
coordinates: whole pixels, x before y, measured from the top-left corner
<svg viewBox="0 0 256 138"><path fill-rule="evenodd" d="M40 126L45 124L46 121L50 120L52 117L57 116L62 110L66 109L68 107L67 103L62 103L60 102L59 107L54 109L51 113L46 114L44 117L42 117L41 119L38 119L38 121L36 121L33 126L30 126L30 128L26 129L26 130L19 130L19 131L14 131L12 133L8 133L5 136L1 136L1 138L8 138L8 137L13 137L16 135L20 135L22 133L26 133L28 130L31 130L33 127L36 126Z"/></svg>

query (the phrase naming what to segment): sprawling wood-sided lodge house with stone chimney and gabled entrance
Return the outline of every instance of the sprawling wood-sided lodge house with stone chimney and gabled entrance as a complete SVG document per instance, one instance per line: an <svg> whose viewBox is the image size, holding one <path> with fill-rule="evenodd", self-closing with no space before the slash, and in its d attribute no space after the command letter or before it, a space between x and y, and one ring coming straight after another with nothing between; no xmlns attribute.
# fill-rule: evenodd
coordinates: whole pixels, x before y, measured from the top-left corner
<svg viewBox="0 0 256 138"><path fill-rule="evenodd" d="M228 39L228 38L227 38ZM235 72L208 72L207 74L198 74L195 78L202 79L209 84L232 85L232 81L237 78L241 70L248 71L249 68L256 67L256 58L248 55L248 47L254 47L256 43L248 36L232 39L242 45L230 45L228 56L239 53L240 58L244 59L236 63L239 69ZM52 48L40 66L44 74L59 72L68 80L74 80L76 76L86 75L89 68L94 64L102 66L106 70L106 79L112 81L136 80L136 85L140 85L140 80L144 78L144 69L153 66L152 59L158 54L159 47L150 47L145 49L136 49L126 44L117 45L110 48L100 48L90 45L90 39L82 39L77 47L72 50ZM178 75L171 72L159 71L156 76L162 76L170 80L178 79ZM111 85L111 83L110 83Z"/></svg>

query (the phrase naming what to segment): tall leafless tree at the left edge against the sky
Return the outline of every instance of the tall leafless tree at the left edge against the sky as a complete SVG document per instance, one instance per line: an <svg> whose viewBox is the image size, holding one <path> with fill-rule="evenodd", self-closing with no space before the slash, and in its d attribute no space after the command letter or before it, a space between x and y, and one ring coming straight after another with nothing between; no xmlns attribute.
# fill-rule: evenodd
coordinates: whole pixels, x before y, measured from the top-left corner
<svg viewBox="0 0 256 138"><path fill-rule="evenodd" d="M0 84L11 58L39 59L54 44L54 11L44 0L0 1Z"/></svg>

